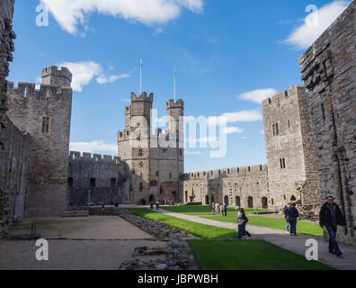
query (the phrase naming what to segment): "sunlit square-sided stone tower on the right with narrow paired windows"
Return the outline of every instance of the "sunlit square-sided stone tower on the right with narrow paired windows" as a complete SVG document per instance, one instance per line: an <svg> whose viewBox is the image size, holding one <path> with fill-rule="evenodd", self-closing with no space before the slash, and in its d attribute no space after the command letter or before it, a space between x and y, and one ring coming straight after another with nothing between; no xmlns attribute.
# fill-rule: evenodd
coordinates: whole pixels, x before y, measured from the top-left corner
<svg viewBox="0 0 356 288"><path fill-rule="evenodd" d="M308 217L319 203L315 135L304 85L289 88L263 101L269 204L280 209L287 202L303 205Z"/></svg>

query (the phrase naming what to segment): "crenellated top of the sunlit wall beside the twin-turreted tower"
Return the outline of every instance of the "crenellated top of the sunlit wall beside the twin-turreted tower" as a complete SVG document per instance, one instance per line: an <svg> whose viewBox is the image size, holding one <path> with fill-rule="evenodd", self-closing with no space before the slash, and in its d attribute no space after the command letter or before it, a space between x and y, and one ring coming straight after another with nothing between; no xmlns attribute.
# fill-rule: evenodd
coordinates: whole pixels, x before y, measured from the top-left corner
<svg viewBox="0 0 356 288"><path fill-rule="evenodd" d="M267 175L267 165L241 166L183 174L183 180L208 180L229 176Z"/></svg>

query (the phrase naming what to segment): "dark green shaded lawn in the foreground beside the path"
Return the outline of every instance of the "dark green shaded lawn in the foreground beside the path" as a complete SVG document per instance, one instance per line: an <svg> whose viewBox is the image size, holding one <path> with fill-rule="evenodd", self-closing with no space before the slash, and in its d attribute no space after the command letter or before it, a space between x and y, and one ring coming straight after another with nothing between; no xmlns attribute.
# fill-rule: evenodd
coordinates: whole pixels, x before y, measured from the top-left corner
<svg viewBox="0 0 356 288"><path fill-rule="evenodd" d="M263 240L191 240L203 270L331 270Z"/></svg>

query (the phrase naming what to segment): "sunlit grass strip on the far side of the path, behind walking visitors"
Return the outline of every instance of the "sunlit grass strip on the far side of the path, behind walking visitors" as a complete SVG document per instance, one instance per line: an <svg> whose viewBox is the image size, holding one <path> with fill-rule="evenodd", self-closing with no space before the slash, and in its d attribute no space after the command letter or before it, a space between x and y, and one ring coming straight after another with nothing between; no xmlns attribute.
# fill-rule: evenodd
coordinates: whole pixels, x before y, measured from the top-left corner
<svg viewBox="0 0 356 288"><path fill-rule="evenodd" d="M236 216L218 217L218 216L203 216L203 218L208 218L212 220L219 220L223 222L236 223ZM248 216L248 224L253 226L269 227L274 229L286 229L286 220L283 218L270 218L263 216ZM316 223L310 223L303 220L298 220L297 222L297 232L300 234L322 236L323 229Z"/></svg>

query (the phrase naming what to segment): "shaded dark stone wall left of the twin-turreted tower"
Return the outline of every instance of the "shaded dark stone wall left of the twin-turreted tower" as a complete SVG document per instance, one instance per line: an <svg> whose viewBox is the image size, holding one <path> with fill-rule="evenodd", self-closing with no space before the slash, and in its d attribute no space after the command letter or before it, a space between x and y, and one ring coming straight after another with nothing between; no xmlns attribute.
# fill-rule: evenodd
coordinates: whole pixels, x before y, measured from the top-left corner
<svg viewBox="0 0 356 288"><path fill-rule="evenodd" d="M128 202L129 168L120 157L71 151L68 168L70 206Z"/></svg>

